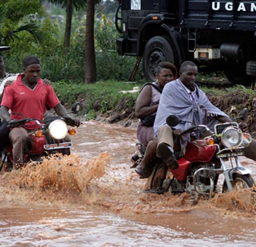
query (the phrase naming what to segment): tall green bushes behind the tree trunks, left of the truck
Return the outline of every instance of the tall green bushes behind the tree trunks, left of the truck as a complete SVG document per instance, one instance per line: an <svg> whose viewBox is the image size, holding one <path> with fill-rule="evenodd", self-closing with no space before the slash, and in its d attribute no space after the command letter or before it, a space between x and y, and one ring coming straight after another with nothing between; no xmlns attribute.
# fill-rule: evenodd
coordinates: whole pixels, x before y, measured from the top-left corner
<svg viewBox="0 0 256 247"><path fill-rule="evenodd" d="M11 50L5 53L6 71L19 73L22 71L22 60L27 55L37 55L42 62L42 78L52 82L66 80L76 83L84 81L85 47L84 23L77 29L71 47L64 50L62 40L58 39L59 27L52 24L49 18L36 20L42 24L43 41L35 43L29 33L22 33L21 40L10 43ZM112 21L103 17L96 22L95 44L97 50L97 80L127 81L135 65L135 57L121 57L115 50L117 31ZM143 80L141 66L136 80Z"/></svg>

